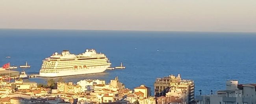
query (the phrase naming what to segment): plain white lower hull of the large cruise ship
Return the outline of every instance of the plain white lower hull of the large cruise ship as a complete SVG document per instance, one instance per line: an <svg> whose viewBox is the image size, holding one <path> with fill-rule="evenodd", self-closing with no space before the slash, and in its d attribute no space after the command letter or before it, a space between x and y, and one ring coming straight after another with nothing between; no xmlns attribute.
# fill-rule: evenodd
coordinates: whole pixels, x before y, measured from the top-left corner
<svg viewBox="0 0 256 104"><path fill-rule="evenodd" d="M104 72L109 66L100 66L95 68L78 68L78 69L69 69L62 70L57 73L44 73L40 72L37 77L63 77L71 75L82 75L82 74L94 74Z"/></svg>

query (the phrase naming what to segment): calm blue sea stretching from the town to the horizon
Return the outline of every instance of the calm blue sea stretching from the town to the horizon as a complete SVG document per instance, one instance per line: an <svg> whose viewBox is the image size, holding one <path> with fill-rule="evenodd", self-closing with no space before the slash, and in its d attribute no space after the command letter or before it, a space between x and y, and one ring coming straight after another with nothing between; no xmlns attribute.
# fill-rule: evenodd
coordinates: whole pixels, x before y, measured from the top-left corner
<svg viewBox="0 0 256 104"><path fill-rule="evenodd" d="M42 60L54 52L68 49L80 54L87 48L106 54L112 66L122 62L126 69L64 77L65 81L109 82L118 76L127 88L145 84L153 93L157 77L181 74L195 81L196 95L198 90L209 94L225 89L229 79L256 83L256 33L0 29L0 65L28 61L28 74L38 74ZM30 81L46 83L47 79Z"/></svg>

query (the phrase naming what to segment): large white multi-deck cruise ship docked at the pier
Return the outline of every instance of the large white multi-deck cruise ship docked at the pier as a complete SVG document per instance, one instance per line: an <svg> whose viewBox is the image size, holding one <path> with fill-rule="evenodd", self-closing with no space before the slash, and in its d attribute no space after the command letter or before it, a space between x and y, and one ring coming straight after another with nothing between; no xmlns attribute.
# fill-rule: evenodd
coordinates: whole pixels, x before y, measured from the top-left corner
<svg viewBox="0 0 256 104"><path fill-rule="evenodd" d="M111 63L105 54L96 53L94 49L86 49L82 54L70 54L63 50L45 58L37 77L61 77L70 75L94 74L104 72Z"/></svg>

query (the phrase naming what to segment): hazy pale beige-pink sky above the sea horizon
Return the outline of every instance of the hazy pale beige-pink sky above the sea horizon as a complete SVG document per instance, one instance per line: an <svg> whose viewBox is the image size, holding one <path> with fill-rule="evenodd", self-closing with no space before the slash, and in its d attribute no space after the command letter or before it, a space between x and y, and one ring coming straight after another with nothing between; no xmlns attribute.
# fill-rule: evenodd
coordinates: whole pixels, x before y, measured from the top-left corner
<svg viewBox="0 0 256 104"><path fill-rule="evenodd" d="M256 32L256 0L0 0L0 28Z"/></svg>

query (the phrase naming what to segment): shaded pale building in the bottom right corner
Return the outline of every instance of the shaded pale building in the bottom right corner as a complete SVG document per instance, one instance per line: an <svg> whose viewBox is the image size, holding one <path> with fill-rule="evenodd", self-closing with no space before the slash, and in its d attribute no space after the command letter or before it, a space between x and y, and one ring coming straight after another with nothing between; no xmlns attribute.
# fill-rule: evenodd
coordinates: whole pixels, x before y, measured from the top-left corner
<svg viewBox="0 0 256 104"><path fill-rule="evenodd" d="M238 84L230 80L226 81L226 90L216 93L196 96L198 104L256 104L256 84Z"/></svg>

